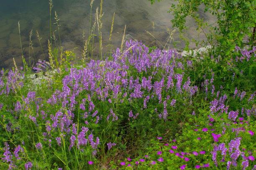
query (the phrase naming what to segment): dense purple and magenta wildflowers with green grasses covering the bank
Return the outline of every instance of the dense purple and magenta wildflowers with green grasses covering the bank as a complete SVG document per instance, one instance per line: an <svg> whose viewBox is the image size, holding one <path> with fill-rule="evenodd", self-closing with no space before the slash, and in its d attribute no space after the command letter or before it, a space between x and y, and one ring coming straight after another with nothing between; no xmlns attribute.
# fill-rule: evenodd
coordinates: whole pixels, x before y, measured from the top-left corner
<svg viewBox="0 0 256 170"><path fill-rule="evenodd" d="M49 60L0 72L0 169L256 169L254 39L195 57L123 39L89 60L102 15L80 58L51 33Z"/></svg>

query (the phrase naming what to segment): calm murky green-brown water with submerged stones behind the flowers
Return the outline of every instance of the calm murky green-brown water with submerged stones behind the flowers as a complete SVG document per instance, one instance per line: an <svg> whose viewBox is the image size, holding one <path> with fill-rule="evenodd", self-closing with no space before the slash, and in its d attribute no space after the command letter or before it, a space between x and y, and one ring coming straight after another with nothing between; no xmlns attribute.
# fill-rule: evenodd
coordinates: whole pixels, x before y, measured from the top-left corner
<svg viewBox="0 0 256 170"><path fill-rule="evenodd" d="M82 33L88 36L90 23L90 0L53 0L52 9L52 31L57 30L54 20L54 11L59 16L60 39L63 50L72 50L75 47L77 56L81 55L83 48ZM162 0L154 5L148 0L103 0L102 12L102 37L103 37L103 54L107 52L110 28L115 12L113 25L113 34L110 44L114 48L120 47L123 31L126 25L125 40L131 38L142 40L146 45L156 45L161 47L154 38L148 35L145 30L148 30L159 40L161 44L165 44L168 40L166 27L173 30L172 15L167 13L173 0ZM95 0L92 7L92 24L94 22L96 8L100 7L100 0ZM2 1L0 5L0 69L10 69L13 67L13 57L18 67L23 66L21 61L20 37L18 32L18 21L20 21L20 35L23 45L23 55L26 62L31 60L44 60L44 55L40 44L36 37L38 30L46 60L48 60L47 42L50 39L50 14L48 0L9 0ZM205 20L213 20L211 16L205 15L199 11L200 15ZM153 29L154 22L154 29ZM195 23L190 23L192 30L189 32L189 37L198 37L195 29ZM33 51L29 50L29 32L33 29L31 37L33 42ZM96 29L97 30L97 29ZM57 45L59 45L59 37L57 36ZM179 32L174 35L174 40L179 41ZM93 57L98 56L99 42L95 38L95 53ZM179 46L179 45L178 45ZM167 44L167 47L173 48L173 45ZM181 47L184 43L181 42ZM33 53L34 52L34 53Z"/></svg>

